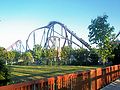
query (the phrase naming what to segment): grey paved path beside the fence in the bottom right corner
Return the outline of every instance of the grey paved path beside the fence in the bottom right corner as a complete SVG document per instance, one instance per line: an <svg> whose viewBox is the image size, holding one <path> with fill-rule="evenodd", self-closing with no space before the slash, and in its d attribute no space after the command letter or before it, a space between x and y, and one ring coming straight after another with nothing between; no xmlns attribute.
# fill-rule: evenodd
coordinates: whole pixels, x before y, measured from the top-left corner
<svg viewBox="0 0 120 90"><path fill-rule="evenodd" d="M101 90L120 90L120 78L105 86Z"/></svg>

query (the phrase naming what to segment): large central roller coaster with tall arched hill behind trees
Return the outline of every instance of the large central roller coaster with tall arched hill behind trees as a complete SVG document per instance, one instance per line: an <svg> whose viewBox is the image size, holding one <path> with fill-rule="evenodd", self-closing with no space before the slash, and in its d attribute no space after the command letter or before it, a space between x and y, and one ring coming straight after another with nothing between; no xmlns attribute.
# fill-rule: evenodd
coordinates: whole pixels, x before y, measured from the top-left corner
<svg viewBox="0 0 120 90"><path fill-rule="evenodd" d="M38 37L36 38L36 36L39 36L39 39ZM79 38L75 33L73 33L73 31L70 31L64 24L60 22L56 22L56 21L52 21L47 26L33 30L29 34L26 40L26 50L31 49L30 38L33 39L32 40L33 46L35 44L40 44L42 47L47 48L47 49L57 48L57 47L61 48L64 46L72 47L72 44L75 44L80 47L80 45L75 42L76 40L81 42L88 49L91 49L90 45L87 42L85 42L82 38ZM36 43L37 39L40 42Z"/></svg>

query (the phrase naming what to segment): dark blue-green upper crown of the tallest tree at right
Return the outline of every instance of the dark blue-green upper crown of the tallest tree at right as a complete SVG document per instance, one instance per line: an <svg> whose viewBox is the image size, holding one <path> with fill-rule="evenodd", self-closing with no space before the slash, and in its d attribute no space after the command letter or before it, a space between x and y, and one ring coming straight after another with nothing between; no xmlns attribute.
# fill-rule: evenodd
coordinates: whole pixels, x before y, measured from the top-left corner
<svg viewBox="0 0 120 90"><path fill-rule="evenodd" d="M107 23L107 18L107 15L103 15L91 20L91 25L88 26L88 37L91 43L103 46L110 39L114 27L110 27L110 24Z"/></svg>

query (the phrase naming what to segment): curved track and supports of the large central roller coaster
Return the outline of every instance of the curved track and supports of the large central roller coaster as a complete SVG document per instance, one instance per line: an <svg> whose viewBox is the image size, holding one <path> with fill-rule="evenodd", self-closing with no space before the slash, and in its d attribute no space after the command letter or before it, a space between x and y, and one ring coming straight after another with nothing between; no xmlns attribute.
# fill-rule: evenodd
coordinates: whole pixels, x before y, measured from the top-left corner
<svg viewBox="0 0 120 90"><path fill-rule="evenodd" d="M61 28L60 32L58 32L55 29L56 27L55 25L59 25L59 27ZM61 39L64 39L62 42L62 45L60 44L61 47L64 47L66 44L68 46L72 46L72 43L80 47L79 44L77 44L75 41L72 40L72 38L74 37L77 41L82 43L89 50L91 49L91 46L87 42L85 42L82 38L79 38L75 33L73 33L73 31L69 30L64 24L57 21L51 21L47 26L37 28L28 35L28 38L26 40L26 50L30 49L29 41L30 41L30 37L32 37L32 34L33 34L33 45L36 44L35 35L36 35L36 32L40 30L41 32L43 31L43 34L41 35L42 37L41 42L43 42L43 38L44 38L44 45L43 45L44 48L51 48L55 46L56 39L59 41ZM51 46L49 42L51 42L52 44Z"/></svg>

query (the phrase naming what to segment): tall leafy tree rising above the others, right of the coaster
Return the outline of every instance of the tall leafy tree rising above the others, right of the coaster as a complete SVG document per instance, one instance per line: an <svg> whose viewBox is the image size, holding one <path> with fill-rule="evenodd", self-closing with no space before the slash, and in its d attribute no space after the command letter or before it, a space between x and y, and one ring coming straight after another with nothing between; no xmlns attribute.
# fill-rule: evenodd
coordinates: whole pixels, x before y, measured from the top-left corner
<svg viewBox="0 0 120 90"><path fill-rule="evenodd" d="M107 22L107 15L98 16L96 19L91 20L91 25L88 26L89 29L89 41L91 44L97 44L99 48L98 53L101 57L103 64L107 61L107 58L112 53L112 46L110 40L114 27L110 27Z"/></svg>

